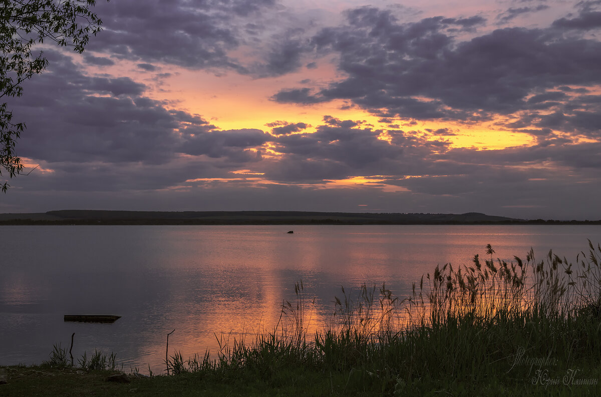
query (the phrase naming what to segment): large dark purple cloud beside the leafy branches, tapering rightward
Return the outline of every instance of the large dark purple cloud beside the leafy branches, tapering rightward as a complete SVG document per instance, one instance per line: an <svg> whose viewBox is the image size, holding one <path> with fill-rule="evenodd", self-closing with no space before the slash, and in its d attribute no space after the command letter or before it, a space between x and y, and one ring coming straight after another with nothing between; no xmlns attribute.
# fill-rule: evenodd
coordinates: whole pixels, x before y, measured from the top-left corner
<svg viewBox="0 0 601 397"><path fill-rule="evenodd" d="M22 157L76 167L104 163L99 170L167 164L180 153L244 163L261 158L260 151L246 149L272 137L260 130L218 131L201 116L144 97L145 86L129 77L91 77L57 52L47 52L47 58L47 73L30 80L25 95L10 104L27 121Z"/></svg>

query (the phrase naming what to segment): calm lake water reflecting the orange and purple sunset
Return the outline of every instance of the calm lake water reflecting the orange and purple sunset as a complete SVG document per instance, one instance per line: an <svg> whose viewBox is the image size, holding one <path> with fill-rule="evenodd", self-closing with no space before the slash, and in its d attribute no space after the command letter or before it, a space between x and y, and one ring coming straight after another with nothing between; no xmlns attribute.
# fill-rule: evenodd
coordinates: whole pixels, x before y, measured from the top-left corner
<svg viewBox="0 0 601 397"><path fill-rule="evenodd" d="M286 232L293 228L294 234ZM41 363L53 344L75 360L114 352L125 370L164 371L169 353L216 351L216 335L251 340L277 323L303 282L312 327L331 318L340 287L386 285L404 297L436 264L474 254L575 262L601 241L599 225L3 226L0 365ZM114 314L113 324L66 323L65 314Z"/></svg>

